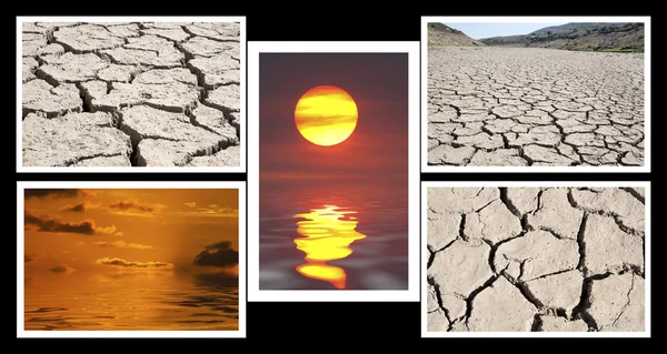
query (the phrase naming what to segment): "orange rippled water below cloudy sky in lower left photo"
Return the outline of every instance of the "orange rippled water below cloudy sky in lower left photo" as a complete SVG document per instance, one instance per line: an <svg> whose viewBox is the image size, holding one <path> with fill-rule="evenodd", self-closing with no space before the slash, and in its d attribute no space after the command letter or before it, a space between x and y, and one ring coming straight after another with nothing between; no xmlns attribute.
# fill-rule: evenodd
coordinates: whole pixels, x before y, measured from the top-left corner
<svg viewBox="0 0 667 354"><path fill-rule="evenodd" d="M238 279L135 272L26 279L26 331L238 331Z"/></svg>

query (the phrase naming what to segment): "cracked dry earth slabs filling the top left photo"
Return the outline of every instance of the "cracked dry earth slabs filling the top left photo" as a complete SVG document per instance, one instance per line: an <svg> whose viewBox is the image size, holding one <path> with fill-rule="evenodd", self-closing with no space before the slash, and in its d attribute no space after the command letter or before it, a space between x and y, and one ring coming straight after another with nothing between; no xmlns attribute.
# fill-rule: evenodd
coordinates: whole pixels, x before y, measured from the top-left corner
<svg viewBox="0 0 667 354"><path fill-rule="evenodd" d="M22 23L26 166L239 166L240 24Z"/></svg>

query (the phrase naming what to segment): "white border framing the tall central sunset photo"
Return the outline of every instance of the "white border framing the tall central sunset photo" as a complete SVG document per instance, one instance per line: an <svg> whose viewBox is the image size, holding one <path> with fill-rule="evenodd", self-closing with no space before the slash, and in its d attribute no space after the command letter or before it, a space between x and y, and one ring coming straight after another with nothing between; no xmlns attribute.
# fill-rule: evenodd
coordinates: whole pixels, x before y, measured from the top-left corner
<svg viewBox="0 0 667 354"><path fill-rule="evenodd" d="M266 291L259 289L259 54L408 54L408 290ZM248 47L248 301L350 302L419 301L419 43L418 42L249 42Z"/></svg>

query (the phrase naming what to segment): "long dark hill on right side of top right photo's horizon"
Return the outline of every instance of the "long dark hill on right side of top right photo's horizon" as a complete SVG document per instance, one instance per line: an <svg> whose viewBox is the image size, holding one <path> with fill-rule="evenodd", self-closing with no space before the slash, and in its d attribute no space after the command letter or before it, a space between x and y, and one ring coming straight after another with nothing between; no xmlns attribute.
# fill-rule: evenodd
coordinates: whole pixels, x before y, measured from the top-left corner
<svg viewBox="0 0 667 354"><path fill-rule="evenodd" d="M644 23L567 23L528 34L480 39L488 45L644 52Z"/></svg>

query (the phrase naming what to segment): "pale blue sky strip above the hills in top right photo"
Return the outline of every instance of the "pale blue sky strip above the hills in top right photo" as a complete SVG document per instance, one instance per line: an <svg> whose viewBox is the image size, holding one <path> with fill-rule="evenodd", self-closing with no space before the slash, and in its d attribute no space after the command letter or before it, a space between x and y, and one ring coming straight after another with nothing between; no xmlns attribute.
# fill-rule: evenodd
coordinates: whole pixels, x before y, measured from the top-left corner
<svg viewBox="0 0 667 354"><path fill-rule="evenodd" d="M445 22L474 39L528 34L545 27L560 26L567 22Z"/></svg>

